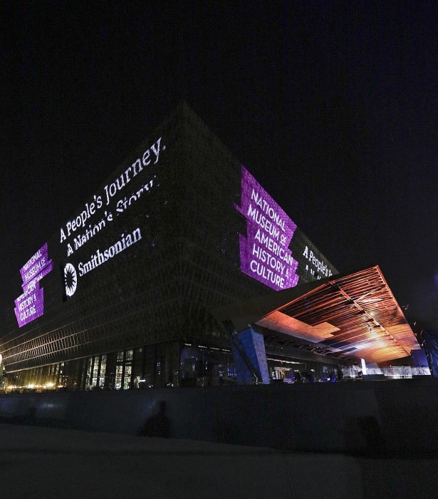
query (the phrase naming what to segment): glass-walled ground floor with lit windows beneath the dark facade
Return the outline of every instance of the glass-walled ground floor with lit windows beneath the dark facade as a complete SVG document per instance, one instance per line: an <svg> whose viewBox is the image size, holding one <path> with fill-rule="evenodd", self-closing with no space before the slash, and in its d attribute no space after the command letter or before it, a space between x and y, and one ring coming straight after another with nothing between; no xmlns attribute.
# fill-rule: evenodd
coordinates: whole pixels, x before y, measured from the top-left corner
<svg viewBox="0 0 438 499"><path fill-rule="evenodd" d="M300 359L272 349L266 359L272 383L339 379L333 359ZM128 390L236 384L237 372L231 349L169 341L11 372L3 382L8 392Z"/></svg>

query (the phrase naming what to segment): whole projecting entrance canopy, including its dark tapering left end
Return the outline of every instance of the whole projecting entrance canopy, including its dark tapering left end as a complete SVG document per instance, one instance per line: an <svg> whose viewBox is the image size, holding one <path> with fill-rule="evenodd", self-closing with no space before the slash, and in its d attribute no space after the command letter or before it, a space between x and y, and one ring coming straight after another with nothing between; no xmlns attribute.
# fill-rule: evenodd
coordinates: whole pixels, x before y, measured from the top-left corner
<svg viewBox="0 0 438 499"><path fill-rule="evenodd" d="M213 311L236 331L249 325L272 338L298 339L306 349L367 363L419 349L410 324L378 266L273 292Z"/></svg>

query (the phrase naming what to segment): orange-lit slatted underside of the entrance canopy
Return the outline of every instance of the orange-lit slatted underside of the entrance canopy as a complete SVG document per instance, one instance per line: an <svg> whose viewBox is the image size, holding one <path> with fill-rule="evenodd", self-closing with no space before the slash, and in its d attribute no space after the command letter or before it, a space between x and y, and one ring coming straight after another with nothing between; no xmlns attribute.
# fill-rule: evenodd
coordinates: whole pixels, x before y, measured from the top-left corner
<svg viewBox="0 0 438 499"><path fill-rule="evenodd" d="M330 279L255 324L368 363L399 359L419 349L378 266Z"/></svg>

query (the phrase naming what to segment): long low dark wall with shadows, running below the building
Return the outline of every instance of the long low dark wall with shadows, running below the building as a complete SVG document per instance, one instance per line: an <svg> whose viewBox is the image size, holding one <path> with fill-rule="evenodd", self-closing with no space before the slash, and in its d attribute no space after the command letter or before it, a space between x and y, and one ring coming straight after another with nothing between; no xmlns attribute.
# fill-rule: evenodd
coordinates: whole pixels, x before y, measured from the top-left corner
<svg viewBox="0 0 438 499"><path fill-rule="evenodd" d="M303 451L438 451L438 380L0 396L4 422Z"/></svg>

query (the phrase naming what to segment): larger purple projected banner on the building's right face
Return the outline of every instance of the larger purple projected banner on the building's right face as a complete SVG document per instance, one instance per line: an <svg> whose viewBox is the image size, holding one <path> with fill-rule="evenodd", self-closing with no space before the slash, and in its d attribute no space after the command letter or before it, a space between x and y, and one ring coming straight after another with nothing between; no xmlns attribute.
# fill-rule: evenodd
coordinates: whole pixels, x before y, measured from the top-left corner
<svg viewBox="0 0 438 499"><path fill-rule="evenodd" d="M296 286L298 261L288 249L295 222L244 166L241 187L241 207L234 205L246 218L246 237L239 235L241 271L277 291Z"/></svg>

